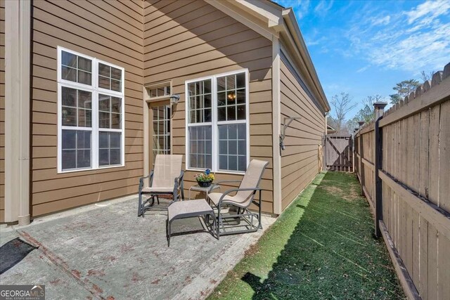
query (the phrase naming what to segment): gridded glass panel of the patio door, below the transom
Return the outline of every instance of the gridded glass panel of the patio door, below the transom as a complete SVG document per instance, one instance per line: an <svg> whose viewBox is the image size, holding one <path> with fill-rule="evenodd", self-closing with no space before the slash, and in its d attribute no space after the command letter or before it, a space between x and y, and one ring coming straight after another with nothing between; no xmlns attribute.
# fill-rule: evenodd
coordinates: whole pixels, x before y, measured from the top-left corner
<svg viewBox="0 0 450 300"><path fill-rule="evenodd" d="M153 162L158 154L170 154L170 105L152 107Z"/></svg>

